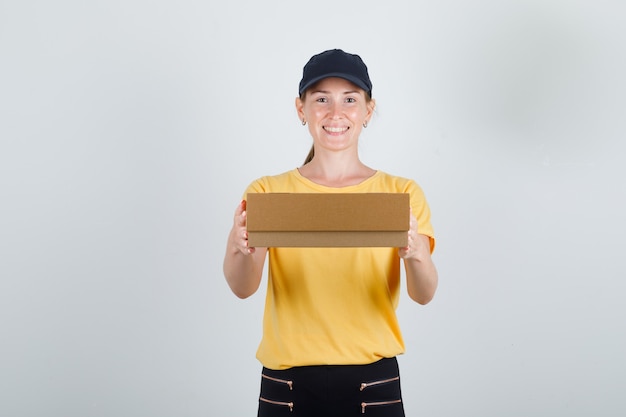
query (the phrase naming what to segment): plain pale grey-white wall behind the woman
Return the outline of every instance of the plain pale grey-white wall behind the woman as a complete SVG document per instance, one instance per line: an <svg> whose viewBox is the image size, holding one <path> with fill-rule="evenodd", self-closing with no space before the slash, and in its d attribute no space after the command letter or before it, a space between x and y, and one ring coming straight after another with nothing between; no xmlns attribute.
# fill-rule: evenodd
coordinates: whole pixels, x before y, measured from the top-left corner
<svg viewBox="0 0 626 417"><path fill-rule="evenodd" d="M414 178L408 416L621 416L621 1L0 1L0 415L253 416L262 289L222 275L253 179L299 166L308 58L358 53L368 165Z"/></svg>

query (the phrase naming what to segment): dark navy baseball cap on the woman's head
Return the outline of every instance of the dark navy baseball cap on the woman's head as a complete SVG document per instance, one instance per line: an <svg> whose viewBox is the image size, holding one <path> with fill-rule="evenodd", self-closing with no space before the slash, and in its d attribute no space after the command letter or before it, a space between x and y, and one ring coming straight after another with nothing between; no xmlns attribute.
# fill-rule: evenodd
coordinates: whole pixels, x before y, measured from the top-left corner
<svg viewBox="0 0 626 417"><path fill-rule="evenodd" d="M302 96L307 88L328 77L348 80L365 90L370 97L372 95L372 82L361 57L341 49L324 51L309 59L302 71L298 94Z"/></svg>

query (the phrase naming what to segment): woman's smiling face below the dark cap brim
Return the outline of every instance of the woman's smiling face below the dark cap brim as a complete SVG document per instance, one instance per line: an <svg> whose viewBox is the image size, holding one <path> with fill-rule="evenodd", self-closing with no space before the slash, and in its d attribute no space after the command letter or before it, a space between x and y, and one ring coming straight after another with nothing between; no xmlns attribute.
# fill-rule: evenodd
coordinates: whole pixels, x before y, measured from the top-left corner
<svg viewBox="0 0 626 417"><path fill-rule="evenodd" d="M343 78L325 78L296 99L301 120L309 125L316 150L356 147L363 123L369 122L374 100Z"/></svg>

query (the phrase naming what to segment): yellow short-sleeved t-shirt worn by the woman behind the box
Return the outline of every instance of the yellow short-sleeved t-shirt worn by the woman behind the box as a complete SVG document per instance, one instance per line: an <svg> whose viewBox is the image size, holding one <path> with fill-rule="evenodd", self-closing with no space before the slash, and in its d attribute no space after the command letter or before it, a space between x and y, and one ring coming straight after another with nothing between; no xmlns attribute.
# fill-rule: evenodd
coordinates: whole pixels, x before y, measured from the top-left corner
<svg viewBox="0 0 626 417"><path fill-rule="evenodd" d="M430 209L415 181L378 171L354 186L316 184L297 169L259 178L246 193L409 193L418 232L430 237ZM397 248L269 248L263 338L270 369L367 364L404 352L396 317Z"/></svg>

